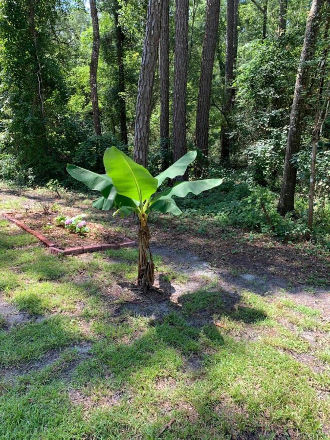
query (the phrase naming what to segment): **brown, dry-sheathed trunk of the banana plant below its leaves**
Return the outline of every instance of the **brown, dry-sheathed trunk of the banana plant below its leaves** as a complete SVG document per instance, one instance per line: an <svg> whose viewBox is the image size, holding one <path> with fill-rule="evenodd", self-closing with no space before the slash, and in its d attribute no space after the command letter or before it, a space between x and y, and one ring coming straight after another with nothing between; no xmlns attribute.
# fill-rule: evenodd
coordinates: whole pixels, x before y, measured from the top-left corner
<svg viewBox="0 0 330 440"><path fill-rule="evenodd" d="M145 217L140 218L138 232L139 254L138 254L138 276L137 285L146 292L154 284L154 261L151 253L150 231Z"/></svg>

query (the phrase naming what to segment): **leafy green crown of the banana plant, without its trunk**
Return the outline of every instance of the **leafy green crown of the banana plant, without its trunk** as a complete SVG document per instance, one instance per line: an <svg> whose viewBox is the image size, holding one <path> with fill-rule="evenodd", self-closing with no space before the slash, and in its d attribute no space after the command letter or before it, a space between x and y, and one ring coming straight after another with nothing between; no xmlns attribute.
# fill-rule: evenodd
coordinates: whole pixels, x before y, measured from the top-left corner
<svg viewBox="0 0 330 440"><path fill-rule="evenodd" d="M154 178L142 165L135 163L116 147L111 147L104 154L107 176L92 173L75 165L67 165L66 169L72 177L86 183L88 188L101 192L102 198L94 201L94 207L105 209L105 206L109 206L110 209L115 205L118 207L115 214L121 212L123 215L128 215L135 212L140 220L146 222L150 210L180 214L181 211L177 208L173 196L182 198L190 192L200 194L222 183L222 179L178 182L173 188L152 197L165 178L176 176L176 173L182 176L195 157L196 152L185 154L168 170ZM111 200L109 205L106 205L106 198Z"/></svg>

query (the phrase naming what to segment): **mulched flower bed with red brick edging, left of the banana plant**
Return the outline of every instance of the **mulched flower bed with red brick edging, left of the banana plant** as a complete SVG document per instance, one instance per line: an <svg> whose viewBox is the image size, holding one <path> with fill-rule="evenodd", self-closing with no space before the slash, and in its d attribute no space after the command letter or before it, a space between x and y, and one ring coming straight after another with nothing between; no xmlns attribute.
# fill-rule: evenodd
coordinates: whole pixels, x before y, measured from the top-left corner
<svg viewBox="0 0 330 440"><path fill-rule="evenodd" d="M66 219L77 217L76 213L69 211L65 212L64 216ZM87 226L86 220L82 219L79 219L77 227L74 230L71 228L70 231L69 227L56 224L57 213L48 215L41 212L8 213L4 214L4 217L35 235L53 254L81 254L135 245L135 242L113 231L110 226L89 221ZM72 222L67 226L71 224Z"/></svg>

